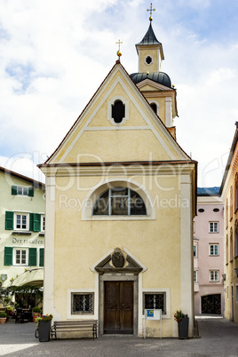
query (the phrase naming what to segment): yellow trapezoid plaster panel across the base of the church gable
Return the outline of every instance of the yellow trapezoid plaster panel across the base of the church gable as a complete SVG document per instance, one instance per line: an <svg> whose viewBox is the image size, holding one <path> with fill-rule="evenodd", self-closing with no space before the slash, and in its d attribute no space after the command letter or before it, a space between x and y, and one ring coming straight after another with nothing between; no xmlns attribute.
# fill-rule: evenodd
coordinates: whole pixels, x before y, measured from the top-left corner
<svg viewBox="0 0 238 357"><path fill-rule="evenodd" d="M154 160L170 160L170 156L150 130L137 131L136 136L134 130L84 131L80 141L67 155L66 162L144 161L149 160L151 154Z"/></svg>

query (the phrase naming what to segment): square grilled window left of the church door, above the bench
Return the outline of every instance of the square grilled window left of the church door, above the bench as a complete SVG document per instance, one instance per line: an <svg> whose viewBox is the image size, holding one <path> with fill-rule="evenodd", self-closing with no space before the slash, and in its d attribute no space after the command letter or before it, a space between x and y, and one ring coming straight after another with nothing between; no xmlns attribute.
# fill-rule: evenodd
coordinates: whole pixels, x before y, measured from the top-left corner
<svg viewBox="0 0 238 357"><path fill-rule="evenodd" d="M93 293L71 293L71 314L93 314Z"/></svg>

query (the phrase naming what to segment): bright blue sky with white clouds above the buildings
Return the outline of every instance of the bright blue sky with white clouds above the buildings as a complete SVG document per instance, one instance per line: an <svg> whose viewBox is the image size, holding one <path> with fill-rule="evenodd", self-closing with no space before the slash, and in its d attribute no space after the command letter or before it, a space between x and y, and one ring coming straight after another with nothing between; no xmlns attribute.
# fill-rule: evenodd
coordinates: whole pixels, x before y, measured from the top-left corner
<svg viewBox="0 0 238 357"><path fill-rule="evenodd" d="M220 186L238 122L238 1L156 0L162 71L178 99L178 144L198 186ZM44 163L117 59L138 71L145 0L0 1L0 166L44 182Z"/></svg>

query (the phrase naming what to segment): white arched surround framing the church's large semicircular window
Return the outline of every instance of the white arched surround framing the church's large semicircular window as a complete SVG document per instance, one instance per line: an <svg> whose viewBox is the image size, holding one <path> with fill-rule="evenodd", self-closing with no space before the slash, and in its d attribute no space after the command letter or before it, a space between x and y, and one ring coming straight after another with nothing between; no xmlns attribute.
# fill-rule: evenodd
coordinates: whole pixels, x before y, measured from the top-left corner
<svg viewBox="0 0 238 357"><path fill-rule="evenodd" d="M137 192L142 200L145 202L147 207L147 215L145 216L93 216L92 210L94 203L99 198L99 195L107 191L111 187L128 187L131 190ZM152 198L148 193L147 189L139 184L139 182L126 178L110 178L105 180L103 183L94 187L83 202L82 220L144 220L144 219L155 219L155 205L153 204Z"/></svg>

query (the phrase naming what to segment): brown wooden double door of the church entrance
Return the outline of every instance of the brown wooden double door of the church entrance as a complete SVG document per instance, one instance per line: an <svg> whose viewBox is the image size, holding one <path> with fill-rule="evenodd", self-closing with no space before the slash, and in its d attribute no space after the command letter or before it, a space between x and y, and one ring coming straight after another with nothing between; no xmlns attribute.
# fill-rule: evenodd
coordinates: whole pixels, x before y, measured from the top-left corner
<svg viewBox="0 0 238 357"><path fill-rule="evenodd" d="M133 282L104 282L104 333L133 334Z"/></svg>

